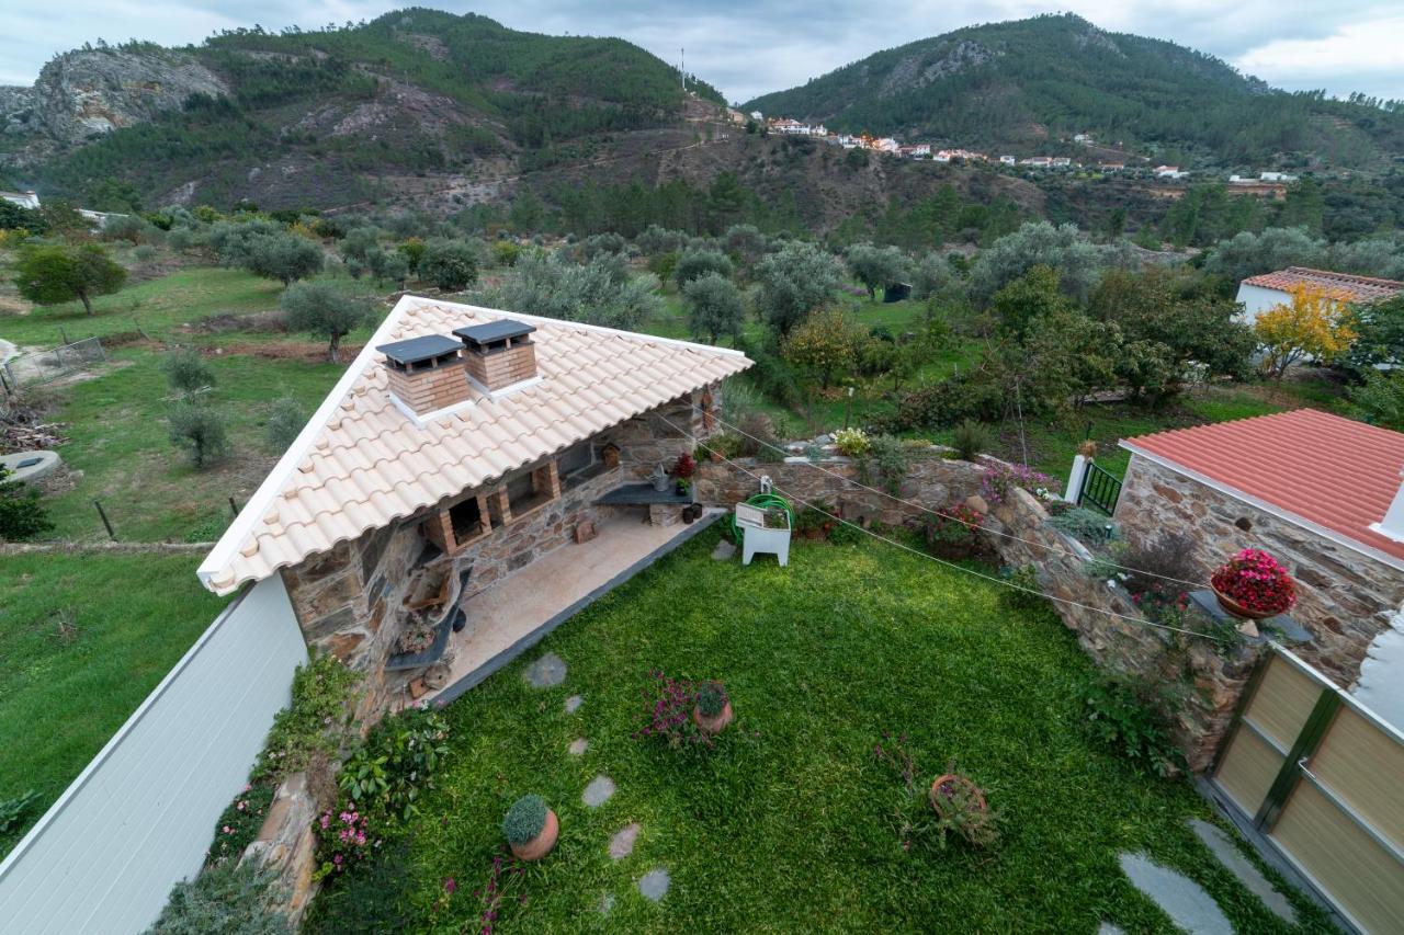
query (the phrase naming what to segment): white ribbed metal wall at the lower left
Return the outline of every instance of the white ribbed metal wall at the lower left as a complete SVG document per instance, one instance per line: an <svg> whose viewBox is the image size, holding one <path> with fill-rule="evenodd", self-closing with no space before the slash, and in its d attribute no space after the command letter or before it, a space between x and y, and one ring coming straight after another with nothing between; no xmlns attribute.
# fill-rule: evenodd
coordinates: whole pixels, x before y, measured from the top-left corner
<svg viewBox="0 0 1404 935"><path fill-rule="evenodd" d="M281 577L227 606L0 863L0 929L146 929L199 869L306 657Z"/></svg>

